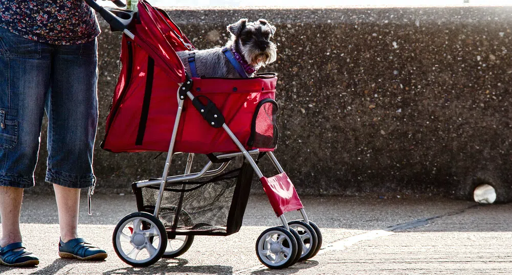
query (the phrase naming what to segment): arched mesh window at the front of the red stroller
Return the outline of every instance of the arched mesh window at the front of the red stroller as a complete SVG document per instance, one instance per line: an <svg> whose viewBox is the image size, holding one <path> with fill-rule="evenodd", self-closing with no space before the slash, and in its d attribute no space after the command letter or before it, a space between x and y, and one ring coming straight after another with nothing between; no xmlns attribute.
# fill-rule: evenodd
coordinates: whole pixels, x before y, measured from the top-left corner
<svg viewBox="0 0 512 275"><path fill-rule="evenodd" d="M252 133L253 148L273 149L278 145L278 126L276 125L277 108L275 101L268 101L261 105L253 120Z"/></svg>

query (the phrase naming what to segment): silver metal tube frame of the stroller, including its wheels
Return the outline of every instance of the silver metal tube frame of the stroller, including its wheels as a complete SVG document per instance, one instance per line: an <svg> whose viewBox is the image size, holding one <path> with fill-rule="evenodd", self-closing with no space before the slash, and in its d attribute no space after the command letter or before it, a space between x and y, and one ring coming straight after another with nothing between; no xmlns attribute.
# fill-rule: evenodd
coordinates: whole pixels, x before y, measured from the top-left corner
<svg viewBox="0 0 512 275"><path fill-rule="evenodd" d="M135 38L135 35L129 30L129 26L132 24L132 19L134 18L134 13L131 11L126 10L120 10L120 9L105 9L101 6L99 6L95 0L86 0L86 2L96 11L98 11L101 16L111 25L113 30L120 30L122 31L127 37L130 37L131 39ZM124 3L120 2L119 0L113 1L118 6L124 6ZM141 1L143 2L143 1ZM140 5L140 4L139 4ZM148 4L147 4L148 5ZM139 9L140 10L140 9ZM186 75L185 82L179 83L179 89L177 91L178 96L178 111L176 114L176 120L174 122L173 127L173 133L170 139L170 144L167 151L167 156L165 160L165 165L162 173L162 177L158 179L151 179L151 180L145 180L145 181L139 181L135 182L134 185L138 188L142 187L148 187L148 186L157 186L158 189L158 196L156 198L156 204L155 209L153 211L153 215L150 215L149 213L133 213L130 215L127 215L124 217L116 227L116 230L114 231L113 235L113 243L114 248L116 250L116 253L118 256L126 263L133 265L133 266L148 266L160 259L160 257L165 257L166 254L166 246L167 242L159 241L158 247L153 246L153 241L155 240L155 237L158 237L159 240L164 239L174 239L177 238L179 235L175 232L175 234L169 234L166 233L165 227L163 227L163 224L160 222L159 218L159 211L160 206L162 202L162 198L164 196L164 189L166 184L171 183L182 183L182 189L185 189L186 181L196 180L204 177L209 176L216 176L220 173L222 173L226 167L228 166L229 162L232 158L235 157L243 157L246 162L250 164L253 171L258 175L259 179L264 178L263 173L261 172L260 168L258 167L257 162L253 159L252 156L259 155L260 157L263 156L263 154L267 154L269 159L272 161L273 165L275 166L276 170L283 174L285 173L281 164L279 161L275 158L273 152L260 152L260 150L246 150L244 145L240 142L240 140L233 134L233 132L230 130L229 126L224 122L224 119L222 117L221 112L215 107L212 108L212 110L208 110L208 112L212 112L214 115L211 118L205 118L205 120L208 121L211 126L215 128L222 127L224 131L229 135L229 137L232 139L232 141L237 145L240 152L238 153L226 153L226 154L220 154L217 155L216 158L219 160L226 160L222 162L220 167L216 169L210 170L214 162L211 160L202 168L200 172L191 173L191 167L192 163L194 161L194 153L189 153L188 158L186 161L186 167L185 172L182 175L177 176L169 176L169 167L170 163L172 162L173 156L175 154L175 143L176 143L176 136L179 129L179 122L180 117L182 115L183 111L183 105L185 100L189 99L191 101L194 101L196 98L191 92L190 89L193 86L193 79L189 78L188 75ZM198 112L204 112L201 107L197 107L195 105ZM203 106L204 108L205 106ZM222 122L221 125L219 125L219 121ZM217 123L217 124L216 124ZM293 187L293 186L292 186ZM294 188L293 188L294 191ZM182 202L183 202L183 192L181 193L180 200L177 205L176 215L173 221L173 228L177 227L178 219L179 219L179 213L181 213L182 210ZM270 199L270 198L269 198ZM272 203L272 202L271 202ZM301 204L302 206L302 204ZM282 227L273 227L265 230L262 235L257 240L257 256L259 260L266 265L269 268L284 268L288 267L298 260L306 260L318 252L319 248L321 247L322 242L322 236L321 232L319 231L318 227L309 221L306 211L304 210L304 207L301 207L300 209L297 209L300 211L303 220L302 221L294 221L294 222L288 222L285 218L284 213L279 215L279 219L281 220L283 226ZM276 212L277 214L277 212ZM127 236L122 232L122 229L124 226L126 226L127 223L133 223L132 235ZM142 224L142 230L139 226L139 223ZM301 236L297 233L297 230L301 230L304 232L303 235L305 235L307 238L309 238L308 243L304 243L304 239L301 239ZM276 235L276 239L272 239ZM134 237L135 236L135 237ZM129 240L127 239L130 238ZM268 243L268 239L271 239L271 243ZM120 243L122 241L129 241L133 247L134 250L132 250L129 253L125 253L123 251L120 251L121 245ZM151 242L148 244L148 240ZM267 242L267 243L266 243ZM144 244L143 244L144 243ZM279 244L276 244L279 243ZM190 242L191 244L191 242ZM306 245L309 244L309 249L306 248ZM287 246L288 245L288 246ZM150 248L152 246L153 248ZM185 245L186 246L186 245ZM188 245L189 247L189 245ZM170 257L177 257L184 253L188 247L178 248L178 251L170 251L167 252L167 256ZM139 249L140 248L140 249ZM144 260L137 260L137 254L142 249L146 249L148 252L147 259ZM265 249L266 248L266 249ZM180 250L181 249L181 250ZM137 251L138 250L138 251ZM184 250L184 251L183 251ZM135 251L135 252L134 252ZM307 255L306 255L307 254ZM135 258L131 257L135 255Z"/></svg>

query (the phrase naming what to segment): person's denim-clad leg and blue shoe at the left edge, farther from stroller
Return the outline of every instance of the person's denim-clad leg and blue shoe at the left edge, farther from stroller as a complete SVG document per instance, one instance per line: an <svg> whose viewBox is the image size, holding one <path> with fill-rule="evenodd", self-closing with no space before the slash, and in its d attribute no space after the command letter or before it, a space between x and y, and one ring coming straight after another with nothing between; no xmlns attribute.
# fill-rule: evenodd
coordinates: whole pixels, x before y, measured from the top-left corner
<svg viewBox="0 0 512 275"><path fill-rule="evenodd" d="M50 86L51 51L46 44L0 29L2 264L36 264L27 253L13 251L23 250L16 245L22 241L19 213L23 188L34 185L45 95Z"/></svg>

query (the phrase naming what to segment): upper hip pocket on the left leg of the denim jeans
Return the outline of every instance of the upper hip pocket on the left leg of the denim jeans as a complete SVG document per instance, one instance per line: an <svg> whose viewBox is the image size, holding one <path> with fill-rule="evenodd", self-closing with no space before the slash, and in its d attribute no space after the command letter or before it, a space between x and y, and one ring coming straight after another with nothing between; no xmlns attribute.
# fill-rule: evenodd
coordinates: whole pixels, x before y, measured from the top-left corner
<svg viewBox="0 0 512 275"><path fill-rule="evenodd" d="M41 44L37 41L0 29L0 55L9 57L41 57Z"/></svg>

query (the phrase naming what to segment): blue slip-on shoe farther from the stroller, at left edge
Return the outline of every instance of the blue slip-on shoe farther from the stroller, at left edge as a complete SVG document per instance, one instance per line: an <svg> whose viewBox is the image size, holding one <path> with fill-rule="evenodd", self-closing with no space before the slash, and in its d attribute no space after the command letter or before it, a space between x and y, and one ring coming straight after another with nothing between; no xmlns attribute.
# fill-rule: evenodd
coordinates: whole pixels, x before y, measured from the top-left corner
<svg viewBox="0 0 512 275"><path fill-rule="evenodd" d="M16 267L36 266L39 264L39 259L25 250L23 243L11 243L0 247L0 264Z"/></svg>

